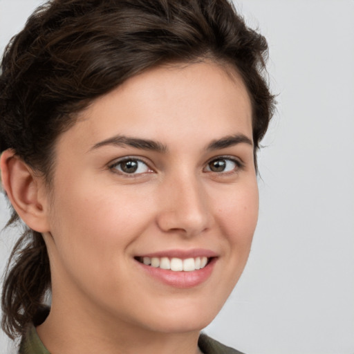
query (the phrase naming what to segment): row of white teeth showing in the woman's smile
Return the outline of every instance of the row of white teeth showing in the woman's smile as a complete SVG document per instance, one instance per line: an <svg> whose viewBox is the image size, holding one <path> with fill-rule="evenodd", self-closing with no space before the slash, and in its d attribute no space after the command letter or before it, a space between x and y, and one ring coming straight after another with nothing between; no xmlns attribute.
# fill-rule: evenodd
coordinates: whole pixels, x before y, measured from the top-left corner
<svg viewBox="0 0 354 354"><path fill-rule="evenodd" d="M207 257L196 257L196 258L172 258L168 257L142 257L139 259L140 262L145 265L151 265L153 268L161 268L172 270L174 272L192 272L194 270L202 269L207 265Z"/></svg>

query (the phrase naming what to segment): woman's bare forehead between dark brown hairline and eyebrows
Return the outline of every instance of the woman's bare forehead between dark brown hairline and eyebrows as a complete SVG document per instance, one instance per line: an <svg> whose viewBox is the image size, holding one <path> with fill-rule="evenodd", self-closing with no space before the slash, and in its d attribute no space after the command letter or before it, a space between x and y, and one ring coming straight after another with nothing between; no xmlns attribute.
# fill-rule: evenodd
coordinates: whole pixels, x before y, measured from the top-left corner
<svg viewBox="0 0 354 354"><path fill-rule="evenodd" d="M159 66L131 77L95 100L62 138L88 145L121 133L158 136L168 144L190 133L214 139L227 132L252 140L250 97L234 69L202 62Z"/></svg>

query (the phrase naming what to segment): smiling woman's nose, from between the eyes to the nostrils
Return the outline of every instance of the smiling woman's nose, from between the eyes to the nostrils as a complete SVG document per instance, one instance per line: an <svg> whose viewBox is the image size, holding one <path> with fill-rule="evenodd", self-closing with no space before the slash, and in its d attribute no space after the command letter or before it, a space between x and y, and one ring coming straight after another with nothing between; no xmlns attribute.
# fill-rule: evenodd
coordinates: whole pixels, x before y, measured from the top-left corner
<svg viewBox="0 0 354 354"><path fill-rule="evenodd" d="M194 176L175 176L160 191L157 223L164 232L184 236L201 234L213 217L203 183Z"/></svg>

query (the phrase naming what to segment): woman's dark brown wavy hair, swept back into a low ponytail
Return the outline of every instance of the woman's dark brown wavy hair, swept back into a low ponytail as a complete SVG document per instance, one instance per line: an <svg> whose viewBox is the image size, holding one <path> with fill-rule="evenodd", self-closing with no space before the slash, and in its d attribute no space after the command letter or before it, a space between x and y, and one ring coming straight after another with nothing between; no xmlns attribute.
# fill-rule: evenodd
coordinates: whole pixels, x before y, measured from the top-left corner
<svg viewBox="0 0 354 354"><path fill-rule="evenodd" d="M6 48L0 73L0 151L14 149L50 185L53 153L75 113L129 77L167 62L211 59L241 74L252 102L254 162L274 97L264 78L268 46L227 0L53 0ZM257 165L256 165L257 166ZM15 211L8 225L15 223ZM29 230L3 283L2 326L11 337L35 320L50 270Z"/></svg>

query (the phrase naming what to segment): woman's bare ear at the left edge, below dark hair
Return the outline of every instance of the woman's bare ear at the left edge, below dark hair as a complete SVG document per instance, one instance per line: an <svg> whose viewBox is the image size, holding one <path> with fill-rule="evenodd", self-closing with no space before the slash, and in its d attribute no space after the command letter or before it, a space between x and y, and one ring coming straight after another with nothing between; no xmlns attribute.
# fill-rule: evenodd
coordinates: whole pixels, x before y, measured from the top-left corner
<svg viewBox="0 0 354 354"><path fill-rule="evenodd" d="M19 217L37 232L47 232L48 201L44 178L36 176L15 151L3 151L0 158L1 180Z"/></svg>

